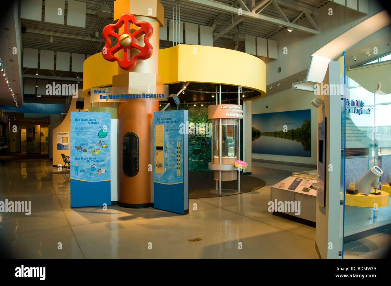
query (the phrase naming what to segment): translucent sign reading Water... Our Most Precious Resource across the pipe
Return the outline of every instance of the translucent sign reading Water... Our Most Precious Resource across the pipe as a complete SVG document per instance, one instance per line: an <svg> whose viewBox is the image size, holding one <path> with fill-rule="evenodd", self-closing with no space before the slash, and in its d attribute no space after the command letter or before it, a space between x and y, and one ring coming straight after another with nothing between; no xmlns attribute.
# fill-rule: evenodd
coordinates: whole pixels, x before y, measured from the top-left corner
<svg viewBox="0 0 391 286"><path fill-rule="evenodd" d="M91 102L167 100L168 85L102 87L91 89Z"/></svg>

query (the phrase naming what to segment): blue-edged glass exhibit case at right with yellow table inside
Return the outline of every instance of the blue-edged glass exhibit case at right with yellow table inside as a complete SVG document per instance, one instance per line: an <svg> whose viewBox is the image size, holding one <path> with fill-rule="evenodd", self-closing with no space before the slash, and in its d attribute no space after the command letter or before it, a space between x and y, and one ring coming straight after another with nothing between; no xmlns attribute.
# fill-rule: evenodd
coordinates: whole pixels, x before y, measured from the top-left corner
<svg viewBox="0 0 391 286"><path fill-rule="evenodd" d="M391 223L391 94L382 92L377 83L384 79L382 69L389 66L379 62L348 67L341 74L345 83L341 96L342 245L383 231ZM368 88L368 82L371 91L362 86Z"/></svg>

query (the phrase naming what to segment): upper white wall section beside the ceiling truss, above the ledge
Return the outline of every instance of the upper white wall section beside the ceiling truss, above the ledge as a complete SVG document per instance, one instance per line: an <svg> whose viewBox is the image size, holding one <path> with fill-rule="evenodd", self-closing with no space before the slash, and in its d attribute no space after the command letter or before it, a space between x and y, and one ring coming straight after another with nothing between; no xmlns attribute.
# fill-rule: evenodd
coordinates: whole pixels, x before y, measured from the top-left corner
<svg viewBox="0 0 391 286"><path fill-rule="evenodd" d="M333 16L328 15L328 9L333 9ZM370 1L369 14L353 11L344 6L330 2L319 9L318 16L312 19L319 28L319 35L313 36L299 30L288 32L286 29L270 37L278 42L278 60L266 64L266 84L281 81L283 78L294 75L308 69L310 55L344 30L354 26L358 22L380 11L382 7L377 1ZM299 24L311 27L306 18ZM283 54L283 48L287 47L288 54ZM343 52L343 51L341 51ZM281 67L281 73L277 68Z"/></svg>

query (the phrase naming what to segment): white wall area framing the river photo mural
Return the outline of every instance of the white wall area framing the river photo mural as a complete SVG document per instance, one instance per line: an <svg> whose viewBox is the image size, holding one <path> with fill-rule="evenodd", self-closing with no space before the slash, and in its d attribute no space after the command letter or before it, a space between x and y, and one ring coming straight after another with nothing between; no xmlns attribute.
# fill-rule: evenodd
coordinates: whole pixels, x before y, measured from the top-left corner
<svg viewBox="0 0 391 286"><path fill-rule="evenodd" d="M287 89L264 98L252 101L252 114L282 112L291 110L311 110L311 157L283 156L270 154L252 154L253 159L274 160L280 162L294 162L316 165L317 153L317 123L316 108L312 106L311 100L316 98L314 92ZM266 108L266 106L268 106Z"/></svg>

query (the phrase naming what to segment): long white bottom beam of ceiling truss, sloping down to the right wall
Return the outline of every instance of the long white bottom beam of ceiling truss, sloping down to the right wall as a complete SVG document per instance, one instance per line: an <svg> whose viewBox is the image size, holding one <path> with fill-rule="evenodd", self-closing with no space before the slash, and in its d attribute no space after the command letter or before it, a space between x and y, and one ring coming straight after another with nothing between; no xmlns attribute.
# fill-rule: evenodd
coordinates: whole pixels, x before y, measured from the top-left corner
<svg viewBox="0 0 391 286"><path fill-rule="evenodd" d="M216 11L230 12L232 14L237 14L238 13L238 9L237 8L232 7L232 6L228 6L228 5L224 5L224 4L221 4L221 3L217 3L217 2L210 2L210 1L207 1L207 0L180 0L180 1L181 2L192 3L192 4L195 4L195 5L200 5L200 6L203 6L203 7L208 7L210 9L214 9ZM297 24L289 23L287 21L282 21L280 19L276 19L276 18L273 18L273 17L265 16L265 15L262 15L262 14L256 14L254 12L249 12L249 11L242 11L242 13L243 13L243 16L248 17L248 18L252 18L252 19L256 19L256 20L260 20L260 21L264 21L264 22L268 22L268 23L273 23L275 25L282 25L282 26L285 26L285 27L290 27L290 28L293 28L293 29L296 29L296 30L299 30L299 31L307 32L307 33L312 34L312 35L319 35L319 31L318 30L314 30L314 29L311 29L311 28L307 28L307 27L303 27L303 26L297 25Z"/></svg>

